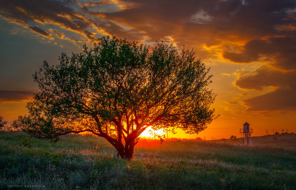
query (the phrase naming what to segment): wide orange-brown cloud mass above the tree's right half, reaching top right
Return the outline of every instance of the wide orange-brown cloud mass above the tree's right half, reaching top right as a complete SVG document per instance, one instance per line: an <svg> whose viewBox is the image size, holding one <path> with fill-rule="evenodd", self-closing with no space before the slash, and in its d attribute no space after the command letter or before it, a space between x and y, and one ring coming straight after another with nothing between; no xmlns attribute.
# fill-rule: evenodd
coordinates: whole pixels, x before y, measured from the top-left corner
<svg viewBox="0 0 296 190"><path fill-rule="evenodd" d="M125 1L127 2L127 1ZM132 8L118 12L98 12L105 21L116 21L133 30L123 30L118 24L104 26L111 34L129 40L139 40L146 36L146 42L154 42L171 36L178 47L194 47L202 59L223 59L237 63L258 60L260 55L250 52L239 54L238 50L247 41L268 39L276 36L295 38L293 31L280 31L277 25L295 23L288 9L294 9L294 1L128 1ZM260 41L258 41L259 43ZM263 41L264 42L264 41ZM251 43L251 42L250 42ZM274 42L276 43L276 42ZM217 51L210 53L203 46L213 44ZM292 42L291 42L292 44ZM263 44L264 45L264 44ZM227 55L227 53L232 53ZM234 54L236 53L236 54ZM248 57L251 55L251 57ZM221 56L221 57L220 57ZM236 57L235 57L236 56Z"/></svg>

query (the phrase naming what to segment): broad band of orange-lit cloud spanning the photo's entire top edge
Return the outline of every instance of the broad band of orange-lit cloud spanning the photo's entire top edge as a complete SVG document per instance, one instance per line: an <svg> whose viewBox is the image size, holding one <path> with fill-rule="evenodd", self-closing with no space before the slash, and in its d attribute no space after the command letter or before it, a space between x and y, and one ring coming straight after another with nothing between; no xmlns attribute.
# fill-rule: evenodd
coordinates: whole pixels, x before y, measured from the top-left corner
<svg viewBox="0 0 296 190"><path fill-rule="evenodd" d="M110 0L79 3L75 0L3 0L0 14L7 20L26 25L34 32L49 37L46 25L79 33L85 41L95 41L97 35L115 35L118 38L143 41L166 41L171 36L177 46L194 47L202 59L217 57L221 49L226 57L237 62L249 62L257 57L227 55L242 42L258 40L263 36L295 37L294 1L144 1ZM294 16L293 16L294 15ZM39 24L39 25L38 25ZM43 27L41 27L43 25ZM291 26L291 27L290 27ZM58 27L58 28L57 28ZM42 29L43 31L41 31ZM283 30L284 29L284 30ZM239 36L239 37L237 37ZM59 37L60 38L60 37ZM62 39L62 38L61 38ZM71 38L63 38L70 40ZM234 40L235 39L235 40ZM77 39L76 39L77 40ZM79 40L82 41L82 40ZM169 43L169 41L167 41ZM200 50L204 45L220 44L219 51ZM238 53L238 52L235 52ZM237 58L235 58L237 56Z"/></svg>

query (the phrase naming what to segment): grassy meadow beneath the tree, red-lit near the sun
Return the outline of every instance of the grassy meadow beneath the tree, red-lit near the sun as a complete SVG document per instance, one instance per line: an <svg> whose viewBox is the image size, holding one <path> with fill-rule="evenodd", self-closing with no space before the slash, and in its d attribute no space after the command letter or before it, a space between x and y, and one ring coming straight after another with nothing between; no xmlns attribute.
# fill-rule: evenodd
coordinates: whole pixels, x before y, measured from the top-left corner
<svg viewBox="0 0 296 190"><path fill-rule="evenodd" d="M240 141L140 139L118 159L102 138L67 135L33 148L0 133L0 189L296 189L296 137Z"/></svg>

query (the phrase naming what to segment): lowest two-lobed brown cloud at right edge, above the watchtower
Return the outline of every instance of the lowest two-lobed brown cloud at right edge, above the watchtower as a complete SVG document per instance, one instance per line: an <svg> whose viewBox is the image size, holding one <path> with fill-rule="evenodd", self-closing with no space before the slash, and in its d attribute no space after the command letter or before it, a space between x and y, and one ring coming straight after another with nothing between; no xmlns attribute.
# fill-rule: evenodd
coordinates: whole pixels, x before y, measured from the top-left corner
<svg viewBox="0 0 296 190"><path fill-rule="evenodd" d="M261 66L249 75L241 76L235 85L243 89L262 91L264 87L275 90L260 96L243 100L247 111L296 111L296 73L284 72L268 66Z"/></svg>

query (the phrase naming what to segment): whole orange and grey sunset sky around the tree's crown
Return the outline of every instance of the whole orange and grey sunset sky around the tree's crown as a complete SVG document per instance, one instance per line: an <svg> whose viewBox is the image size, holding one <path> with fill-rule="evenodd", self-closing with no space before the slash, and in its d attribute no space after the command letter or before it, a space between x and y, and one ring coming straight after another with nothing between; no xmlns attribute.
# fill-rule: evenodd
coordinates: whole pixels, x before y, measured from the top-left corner
<svg viewBox="0 0 296 190"><path fill-rule="evenodd" d="M27 113L38 64L107 35L185 45L211 68L220 116L198 135L169 137L240 137L246 121L252 136L296 132L295 0L1 0L0 115Z"/></svg>

